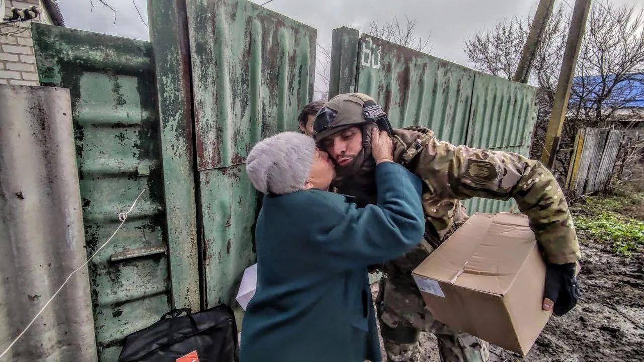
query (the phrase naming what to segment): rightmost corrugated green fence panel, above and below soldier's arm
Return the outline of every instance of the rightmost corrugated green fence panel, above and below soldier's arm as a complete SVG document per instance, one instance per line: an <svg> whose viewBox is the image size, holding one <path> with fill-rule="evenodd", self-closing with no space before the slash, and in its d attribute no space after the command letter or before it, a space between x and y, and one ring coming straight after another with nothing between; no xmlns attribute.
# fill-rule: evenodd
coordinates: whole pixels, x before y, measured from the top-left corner
<svg viewBox="0 0 644 362"><path fill-rule="evenodd" d="M508 151L529 157L536 122L535 95L533 86L477 72L465 143L473 148ZM513 209L516 202L473 198L464 205L470 214L497 213Z"/></svg>

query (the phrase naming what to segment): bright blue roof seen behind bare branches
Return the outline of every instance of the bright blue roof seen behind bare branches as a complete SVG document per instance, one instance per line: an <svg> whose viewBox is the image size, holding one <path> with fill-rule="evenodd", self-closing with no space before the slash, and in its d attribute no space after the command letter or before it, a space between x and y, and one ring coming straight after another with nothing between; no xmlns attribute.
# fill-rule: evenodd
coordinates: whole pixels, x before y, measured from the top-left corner
<svg viewBox="0 0 644 362"><path fill-rule="evenodd" d="M611 81L614 75L609 75L609 82ZM585 87L582 84L585 82ZM599 91L601 88L601 76L600 75L591 75L589 77L574 77L573 79L573 88L576 88L580 91L585 89L586 91L592 91L594 88ZM590 95L589 97L594 98ZM644 73L634 74L634 79L629 81L623 81L616 86L616 89L613 91L613 95L610 99L605 102L606 106L611 106L612 102L623 102L625 99L633 98L625 107L637 107L644 108ZM570 95L571 101L575 102L577 98L574 95L574 92L571 92Z"/></svg>

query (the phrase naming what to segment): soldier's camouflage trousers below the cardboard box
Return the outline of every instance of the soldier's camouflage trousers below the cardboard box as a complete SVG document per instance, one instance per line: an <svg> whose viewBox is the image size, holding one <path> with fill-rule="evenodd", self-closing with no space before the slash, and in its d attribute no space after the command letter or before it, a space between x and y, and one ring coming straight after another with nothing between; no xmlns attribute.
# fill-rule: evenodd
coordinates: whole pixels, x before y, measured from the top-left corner
<svg viewBox="0 0 644 362"><path fill-rule="evenodd" d="M409 283L383 276L375 303L389 362L419 361L421 330L435 334L442 362L489 361L488 343L471 334L451 330L434 319L413 280Z"/></svg>

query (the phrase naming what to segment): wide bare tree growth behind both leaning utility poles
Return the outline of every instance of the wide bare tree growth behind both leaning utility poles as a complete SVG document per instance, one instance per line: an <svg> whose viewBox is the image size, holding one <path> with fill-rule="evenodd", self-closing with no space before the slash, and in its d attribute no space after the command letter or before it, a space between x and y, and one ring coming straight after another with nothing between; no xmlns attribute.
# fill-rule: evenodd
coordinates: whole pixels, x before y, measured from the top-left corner
<svg viewBox="0 0 644 362"><path fill-rule="evenodd" d="M545 129L565 52L570 11L558 6L546 24L542 46L535 55L530 82L538 86L539 106L531 157L540 158ZM491 30L480 30L465 43L475 68L506 79L515 73L530 28L529 17L502 19ZM644 98L644 19L634 6L596 3L587 21L577 61L561 145L571 149L580 127L620 127L624 118L644 117L632 104ZM628 126L627 126L628 127ZM568 155L558 155L558 173L567 169Z"/></svg>

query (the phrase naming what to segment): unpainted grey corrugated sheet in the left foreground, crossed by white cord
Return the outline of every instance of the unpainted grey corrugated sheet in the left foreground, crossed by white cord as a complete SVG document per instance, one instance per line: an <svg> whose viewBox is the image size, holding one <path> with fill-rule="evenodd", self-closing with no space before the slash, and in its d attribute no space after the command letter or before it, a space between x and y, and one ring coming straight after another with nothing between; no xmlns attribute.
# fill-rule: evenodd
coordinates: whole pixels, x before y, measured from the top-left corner
<svg viewBox="0 0 644 362"><path fill-rule="evenodd" d="M85 261L70 94L0 85L0 351ZM87 269L6 361L96 361Z"/></svg>

